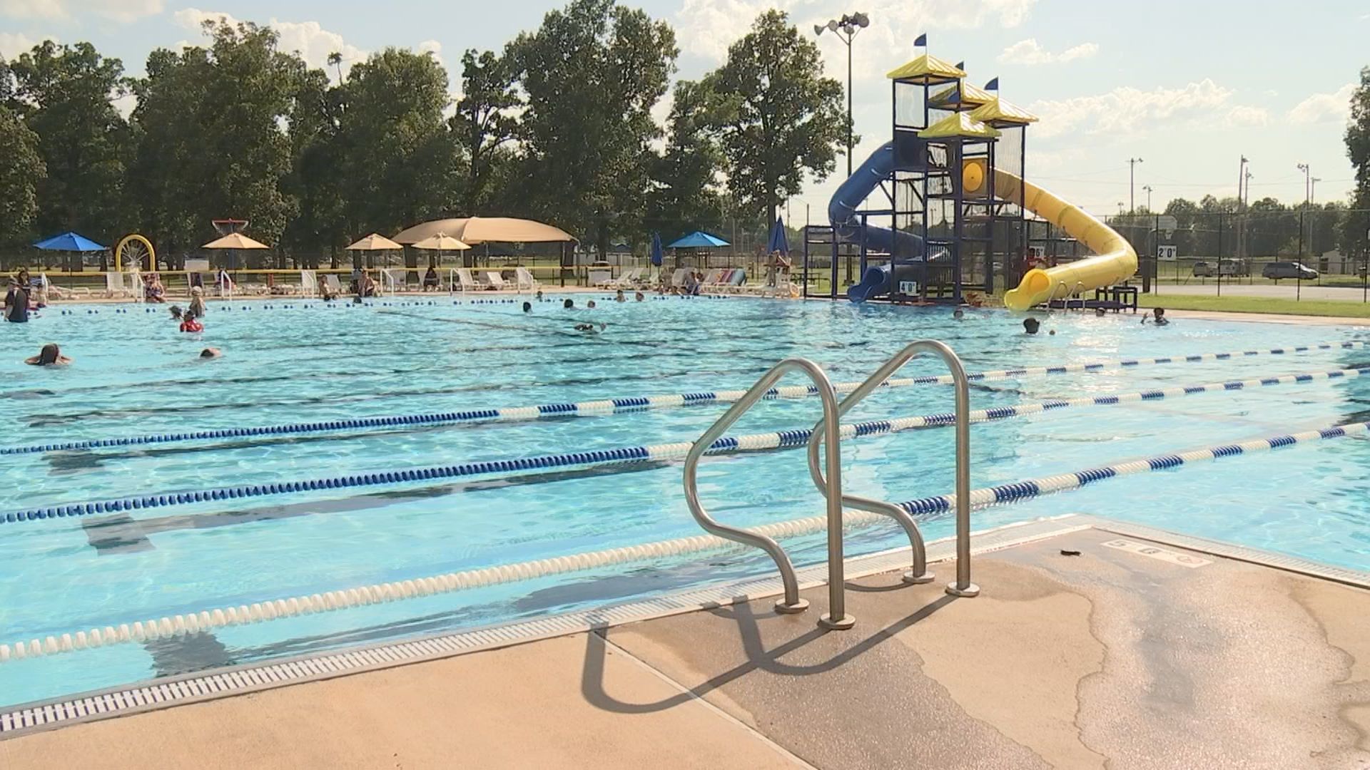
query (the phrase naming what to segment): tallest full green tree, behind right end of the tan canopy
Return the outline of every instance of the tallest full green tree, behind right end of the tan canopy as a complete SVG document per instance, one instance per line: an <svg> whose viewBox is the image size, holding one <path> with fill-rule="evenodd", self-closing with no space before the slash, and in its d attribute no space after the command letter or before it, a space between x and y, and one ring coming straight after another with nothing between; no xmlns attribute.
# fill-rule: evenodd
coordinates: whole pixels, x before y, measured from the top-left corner
<svg viewBox="0 0 1370 770"><path fill-rule="evenodd" d="M675 70L675 33L612 0L574 0L506 55L527 96L523 197L532 212L588 236L640 225L660 136L652 105Z"/></svg>

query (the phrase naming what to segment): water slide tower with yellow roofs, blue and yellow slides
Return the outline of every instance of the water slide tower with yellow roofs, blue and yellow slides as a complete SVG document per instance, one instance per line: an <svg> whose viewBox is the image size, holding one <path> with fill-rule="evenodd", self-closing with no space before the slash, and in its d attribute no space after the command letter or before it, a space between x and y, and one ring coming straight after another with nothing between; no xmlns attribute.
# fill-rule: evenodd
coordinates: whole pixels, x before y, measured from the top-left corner
<svg viewBox="0 0 1370 770"><path fill-rule="evenodd" d="M1025 181L1037 118L999 96L999 78L977 88L930 53L888 77L893 138L833 193L830 225L806 227L806 285L826 273L827 295L845 285L854 303L959 303L997 286L1025 311L1136 273L1126 238Z"/></svg>

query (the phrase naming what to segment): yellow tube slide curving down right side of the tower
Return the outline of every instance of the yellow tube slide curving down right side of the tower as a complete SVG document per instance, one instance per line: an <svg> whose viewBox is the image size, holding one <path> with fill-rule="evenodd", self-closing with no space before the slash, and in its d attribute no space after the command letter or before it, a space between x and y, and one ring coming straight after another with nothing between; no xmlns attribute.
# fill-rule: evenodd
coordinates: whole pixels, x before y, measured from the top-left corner
<svg viewBox="0 0 1370 770"><path fill-rule="evenodd" d="M967 164L964 179L967 189L973 189L971 181L975 175ZM978 175L984 177L984 167L978 170ZM1070 264L1029 270L1018 288L1004 295L1004 306L1008 310L1029 310L1052 299L1111 286L1130 278L1137 271L1137 252L1133 251L1128 238L1078 206L1066 203L1037 185L997 169L995 170L995 193L1056 225L1095 252L1095 256Z"/></svg>

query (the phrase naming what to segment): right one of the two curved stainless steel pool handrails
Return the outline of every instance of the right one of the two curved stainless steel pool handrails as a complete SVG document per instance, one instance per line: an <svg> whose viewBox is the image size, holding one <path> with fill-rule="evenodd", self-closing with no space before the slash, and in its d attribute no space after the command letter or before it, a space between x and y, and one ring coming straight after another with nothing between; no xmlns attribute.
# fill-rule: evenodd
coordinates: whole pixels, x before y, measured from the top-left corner
<svg viewBox="0 0 1370 770"><path fill-rule="evenodd" d="M943 362L951 370L956 388L956 581L947 585L947 593L952 596L977 596L980 588L970 582L970 381L966 377L966 367L960 363L960 356L945 343L938 343L937 340L910 343L843 399L837 406L837 417L841 418L851 411L852 407L875 390L875 388L880 388L914 356L925 351L941 356ZM808 474L821 490L827 489L827 482L823 480L822 469L818 464L818 443L823 440L827 430L825 425L817 425L808 438ZM829 470L834 467L830 460L827 467ZM927 552L923 547L922 533L918 532L918 523L914 522L908 511L893 503L855 495L844 496L843 504L862 511L885 514L897 521L904 527L908 541L912 545L914 563L912 569L904 573L904 581L927 582L933 580L934 575L927 571ZM838 606L841 604L838 603Z"/></svg>

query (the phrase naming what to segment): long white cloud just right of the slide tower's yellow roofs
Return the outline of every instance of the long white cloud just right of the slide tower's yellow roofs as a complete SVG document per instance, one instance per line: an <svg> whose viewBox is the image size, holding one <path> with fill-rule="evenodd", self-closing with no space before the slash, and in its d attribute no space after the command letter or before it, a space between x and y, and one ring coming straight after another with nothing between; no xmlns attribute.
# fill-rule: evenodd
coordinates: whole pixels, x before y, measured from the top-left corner
<svg viewBox="0 0 1370 770"><path fill-rule="evenodd" d="M1211 79L1184 88L1115 88L1108 93L1063 100L1040 100L1028 108L1041 116L1033 129L1038 138L1075 130L1086 134L1136 137L1158 125L1212 127L1252 125L1263 121L1263 110L1232 103L1233 90Z"/></svg>

